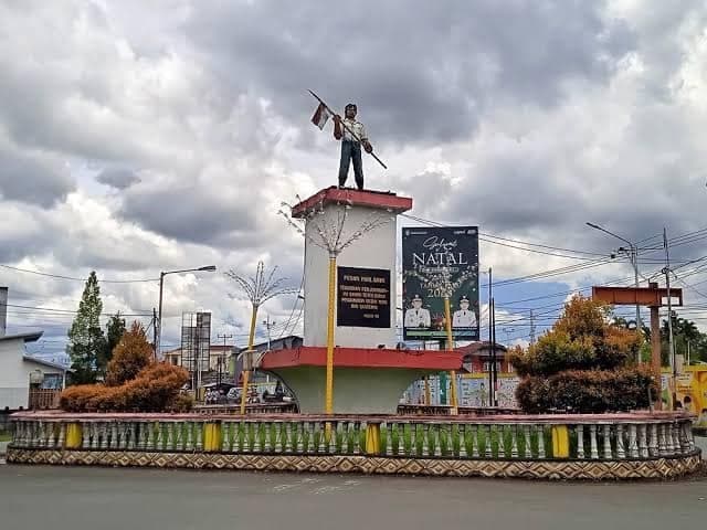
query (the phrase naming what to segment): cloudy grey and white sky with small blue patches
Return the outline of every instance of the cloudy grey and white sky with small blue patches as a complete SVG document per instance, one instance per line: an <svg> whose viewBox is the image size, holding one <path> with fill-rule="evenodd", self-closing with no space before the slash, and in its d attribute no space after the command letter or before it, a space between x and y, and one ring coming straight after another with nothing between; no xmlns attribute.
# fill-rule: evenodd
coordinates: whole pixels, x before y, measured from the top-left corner
<svg viewBox="0 0 707 530"><path fill-rule="evenodd" d="M10 327L46 331L33 351L62 350L92 269L124 282L102 283L105 311L133 315L157 305L160 271L210 264L168 276L162 342L204 309L242 343L247 305L221 273L264 259L299 285L278 205L336 181L307 88L358 104L389 166L368 158L368 187L479 226L481 267L510 280L499 339L527 340L529 310L549 324L562 293L629 283L625 257L598 263L622 243L587 221L641 241L644 278L666 226L685 315L707 324L707 268L689 263L707 254L704 1L283 7L0 0L0 284ZM274 336L299 330L294 304L265 308Z"/></svg>

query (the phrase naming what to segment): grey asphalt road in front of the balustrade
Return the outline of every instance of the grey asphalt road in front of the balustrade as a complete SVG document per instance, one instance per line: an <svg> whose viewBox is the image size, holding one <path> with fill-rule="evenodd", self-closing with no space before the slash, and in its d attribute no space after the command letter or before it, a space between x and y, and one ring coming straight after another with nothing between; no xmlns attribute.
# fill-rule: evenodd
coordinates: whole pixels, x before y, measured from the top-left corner
<svg viewBox="0 0 707 530"><path fill-rule="evenodd" d="M0 465L7 530L700 528L707 480L555 484Z"/></svg>

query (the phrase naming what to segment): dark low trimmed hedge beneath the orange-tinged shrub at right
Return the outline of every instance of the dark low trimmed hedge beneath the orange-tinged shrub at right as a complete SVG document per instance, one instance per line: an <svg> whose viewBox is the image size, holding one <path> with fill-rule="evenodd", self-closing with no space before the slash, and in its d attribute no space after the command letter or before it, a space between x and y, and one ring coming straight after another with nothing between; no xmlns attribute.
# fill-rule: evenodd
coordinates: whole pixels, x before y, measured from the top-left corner
<svg viewBox="0 0 707 530"><path fill-rule="evenodd" d="M567 370L549 378L528 375L516 389L524 412L580 414L625 412L648 407L657 385L647 365L619 370Z"/></svg>

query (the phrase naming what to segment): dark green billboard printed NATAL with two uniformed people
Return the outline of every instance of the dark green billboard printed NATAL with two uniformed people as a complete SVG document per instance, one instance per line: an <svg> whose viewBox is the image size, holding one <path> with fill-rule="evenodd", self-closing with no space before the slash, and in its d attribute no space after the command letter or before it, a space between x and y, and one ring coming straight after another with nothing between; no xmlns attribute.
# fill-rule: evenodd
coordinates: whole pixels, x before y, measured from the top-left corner
<svg viewBox="0 0 707 530"><path fill-rule="evenodd" d="M478 340L478 227L403 227L403 339Z"/></svg>

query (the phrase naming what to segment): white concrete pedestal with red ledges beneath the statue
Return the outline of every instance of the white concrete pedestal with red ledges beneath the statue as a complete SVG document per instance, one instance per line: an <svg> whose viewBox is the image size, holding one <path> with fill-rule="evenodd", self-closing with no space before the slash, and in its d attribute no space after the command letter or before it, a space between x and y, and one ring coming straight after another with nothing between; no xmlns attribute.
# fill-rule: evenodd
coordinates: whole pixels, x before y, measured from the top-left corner
<svg viewBox="0 0 707 530"><path fill-rule="evenodd" d="M462 367L458 353L394 349L395 218L411 208L412 199L394 193L336 187L293 206L293 216L305 220L304 346L267 352L260 368L287 384L302 413L325 412L330 255L320 247L323 233L338 233L340 242L352 240L337 256L342 278L337 282L346 284L337 285L342 305L335 304L344 308L341 315L335 312L335 414L395 414L400 398L415 380ZM381 222L362 230L372 220Z"/></svg>

